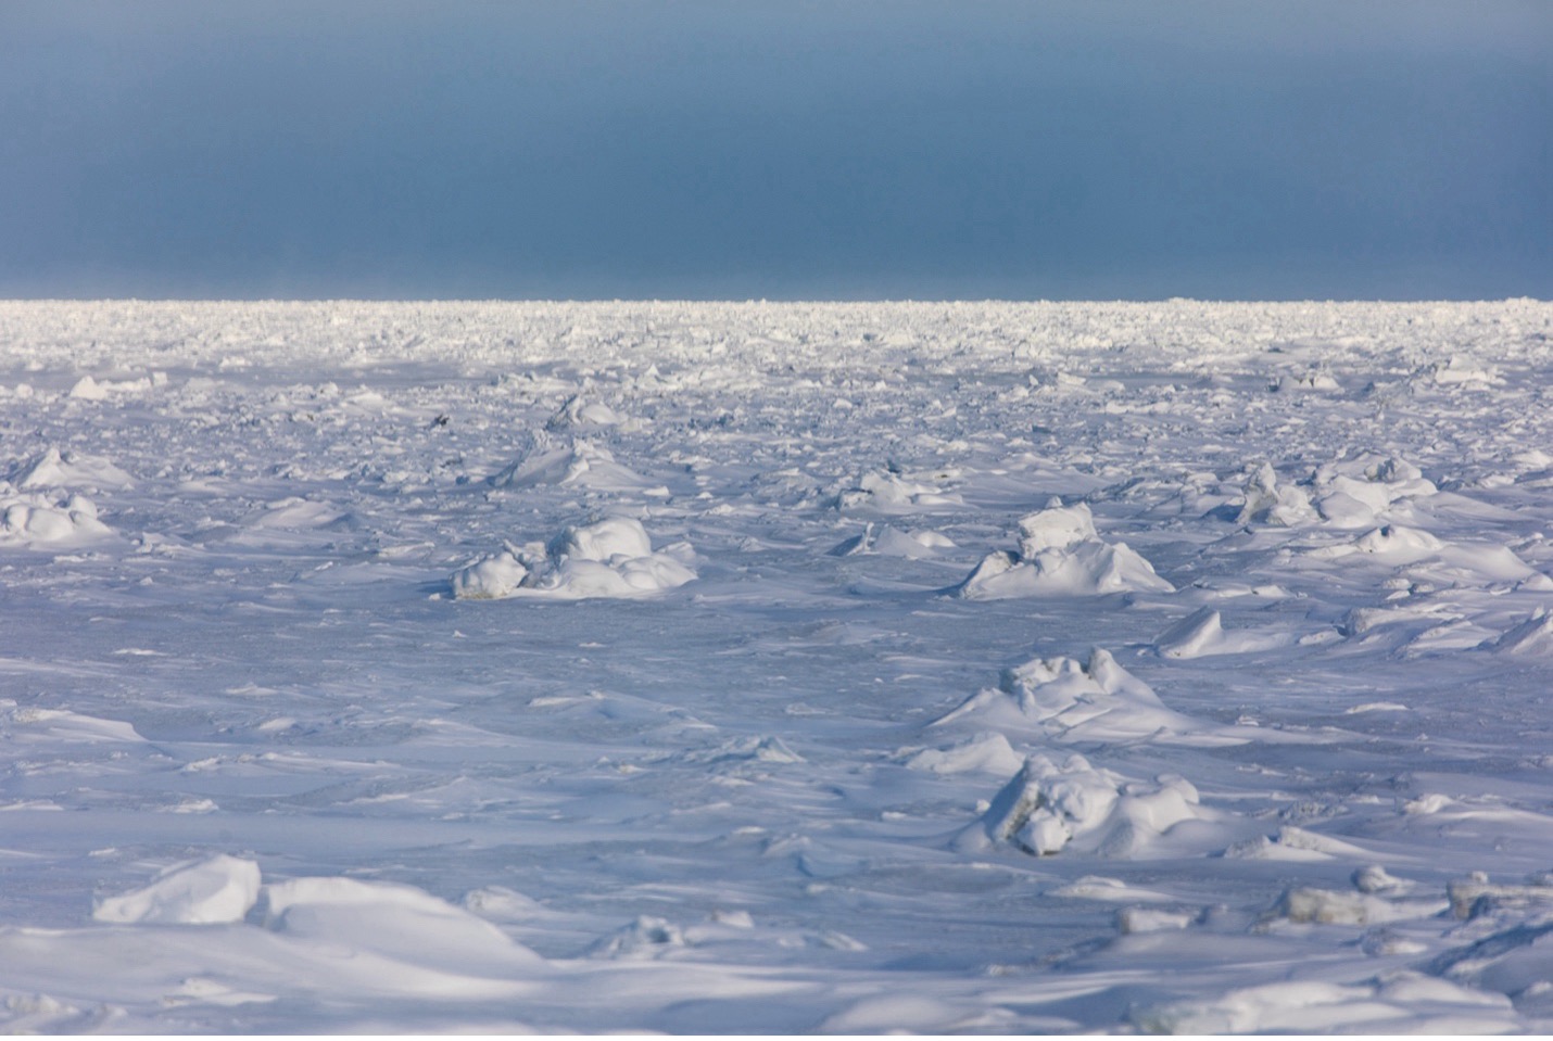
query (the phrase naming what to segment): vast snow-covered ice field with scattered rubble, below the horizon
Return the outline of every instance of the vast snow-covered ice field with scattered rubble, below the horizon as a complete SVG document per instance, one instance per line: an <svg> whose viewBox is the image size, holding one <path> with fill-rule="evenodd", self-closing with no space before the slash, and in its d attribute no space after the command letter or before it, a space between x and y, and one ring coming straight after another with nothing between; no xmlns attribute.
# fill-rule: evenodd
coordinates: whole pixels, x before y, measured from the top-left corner
<svg viewBox="0 0 1553 1041"><path fill-rule="evenodd" d="M0 304L0 1025L1553 1030L1550 335Z"/></svg>

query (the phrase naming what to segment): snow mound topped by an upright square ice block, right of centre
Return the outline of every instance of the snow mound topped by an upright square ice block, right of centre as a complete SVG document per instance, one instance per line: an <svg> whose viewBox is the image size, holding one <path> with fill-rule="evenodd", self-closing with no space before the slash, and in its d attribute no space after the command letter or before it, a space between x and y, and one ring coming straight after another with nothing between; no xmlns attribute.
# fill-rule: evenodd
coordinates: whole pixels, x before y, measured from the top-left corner
<svg viewBox="0 0 1553 1041"><path fill-rule="evenodd" d="M1019 521L1019 552L995 551L954 588L968 600L1020 596L1173 593L1152 565L1126 543L1095 531L1089 506L1051 506Z"/></svg>

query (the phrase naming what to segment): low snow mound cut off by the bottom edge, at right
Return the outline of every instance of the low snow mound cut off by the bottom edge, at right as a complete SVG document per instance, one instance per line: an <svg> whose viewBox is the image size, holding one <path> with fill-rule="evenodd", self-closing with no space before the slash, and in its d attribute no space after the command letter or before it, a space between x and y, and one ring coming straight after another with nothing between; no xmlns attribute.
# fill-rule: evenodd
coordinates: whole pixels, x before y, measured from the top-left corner
<svg viewBox="0 0 1553 1041"><path fill-rule="evenodd" d="M1421 973L1356 985L1297 980L1143 1008L1146 1033L1505 1033L1519 1030L1508 998Z"/></svg>

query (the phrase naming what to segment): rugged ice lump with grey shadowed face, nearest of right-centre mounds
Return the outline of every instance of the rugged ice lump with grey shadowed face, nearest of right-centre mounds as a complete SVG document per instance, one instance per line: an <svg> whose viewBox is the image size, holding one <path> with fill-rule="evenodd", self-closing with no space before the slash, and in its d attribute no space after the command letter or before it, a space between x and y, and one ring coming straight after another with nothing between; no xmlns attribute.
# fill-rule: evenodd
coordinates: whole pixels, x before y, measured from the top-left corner
<svg viewBox="0 0 1553 1041"><path fill-rule="evenodd" d="M1197 805L1197 790L1182 777L1124 780L1082 756L1061 766L1031 756L955 844L968 852L1008 844L1036 856L1067 849L1137 856L1177 824L1210 819Z"/></svg>

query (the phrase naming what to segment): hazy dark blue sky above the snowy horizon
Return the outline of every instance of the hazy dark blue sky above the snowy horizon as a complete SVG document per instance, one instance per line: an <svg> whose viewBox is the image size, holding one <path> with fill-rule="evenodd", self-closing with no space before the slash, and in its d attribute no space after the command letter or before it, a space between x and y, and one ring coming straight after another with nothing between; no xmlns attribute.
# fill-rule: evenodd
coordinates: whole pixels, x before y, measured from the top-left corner
<svg viewBox="0 0 1553 1041"><path fill-rule="evenodd" d="M1548 0L0 0L0 296L1553 296Z"/></svg>

